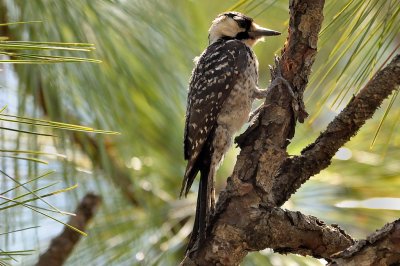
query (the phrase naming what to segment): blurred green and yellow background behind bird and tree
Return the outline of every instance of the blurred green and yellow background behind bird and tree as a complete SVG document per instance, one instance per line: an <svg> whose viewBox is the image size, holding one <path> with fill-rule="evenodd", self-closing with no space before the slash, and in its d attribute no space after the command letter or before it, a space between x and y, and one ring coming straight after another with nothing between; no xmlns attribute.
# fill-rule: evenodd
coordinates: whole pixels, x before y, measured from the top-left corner
<svg viewBox="0 0 400 266"><path fill-rule="evenodd" d="M195 183L193 193L178 198L185 167L188 80L193 58L208 44L211 21L227 10L243 12L258 24L283 33L255 48L260 87L266 87L268 65L286 40L288 1L0 1L0 23L29 22L3 25L2 38L91 43L96 50L90 53L40 53L102 61L1 64L0 109L6 107L1 114L121 133L35 129L30 124L9 125L4 117L0 120L0 195L17 198L26 190L7 191L16 186L15 180L22 183L40 177L27 186L41 194L50 189L47 186L54 191L78 184L74 190L47 199L64 211L73 212L87 192L103 197L88 236L82 238L67 265L177 265L182 259L197 193ZM319 53L305 94L310 117L297 126L290 154L298 154L314 141L352 95L399 53L399 12L397 0L327 1ZM8 58L3 53L0 56ZM374 118L339 150L332 165L303 185L284 207L339 224L356 238L400 217L400 108L396 96L386 100ZM12 127L16 131L4 130ZM11 150L40 153L23 160L10 155ZM232 148L218 171L218 190L224 188L237 153ZM1 208L4 204L10 202L0 199L0 260L32 265L63 225L24 206ZM36 207L43 204L32 203ZM66 215L51 216L68 220ZM14 232L21 229L27 230ZM14 256L7 251L26 254ZM249 254L242 264L322 263L264 250Z"/></svg>

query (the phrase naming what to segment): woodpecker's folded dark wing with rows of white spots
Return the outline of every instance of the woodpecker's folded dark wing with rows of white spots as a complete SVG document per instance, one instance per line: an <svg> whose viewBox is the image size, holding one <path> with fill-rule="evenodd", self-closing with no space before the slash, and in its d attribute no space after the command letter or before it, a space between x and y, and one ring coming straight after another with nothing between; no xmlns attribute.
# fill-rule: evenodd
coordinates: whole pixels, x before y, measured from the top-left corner
<svg viewBox="0 0 400 266"><path fill-rule="evenodd" d="M218 114L247 66L249 48L241 41L217 41L200 56L190 80L184 135L186 172L196 162ZM211 155L210 155L211 156Z"/></svg>

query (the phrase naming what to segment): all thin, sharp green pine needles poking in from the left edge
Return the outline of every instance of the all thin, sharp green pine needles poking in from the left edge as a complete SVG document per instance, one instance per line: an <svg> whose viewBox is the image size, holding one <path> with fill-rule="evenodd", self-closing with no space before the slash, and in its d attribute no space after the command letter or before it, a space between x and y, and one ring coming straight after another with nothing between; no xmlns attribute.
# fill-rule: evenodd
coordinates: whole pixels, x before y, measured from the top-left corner
<svg viewBox="0 0 400 266"><path fill-rule="evenodd" d="M6 27L10 25L20 25L23 23L3 23L0 26ZM70 56L55 56L55 55L44 55L44 54L32 54L31 51L80 51L80 52L89 52L94 49L93 45L91 44L84 44L84 43L56 43L56 42L31 42L31 41L6 41L7 38L1 37L0 38L0 55L5 56L7 59L0 60L1 64L5 63L13 63L13 64L46 64L46 63L66 63L66 62L95 62L99 63L99 60L87 59L87 58L80 58L80 57L70 57ZM117 132L113 131L102 131L102 130L95 130L90 127L85 126L77 126L71 125L66 123L60 122L53 122L47 121L43 119L35 119L23 116L16 116L10 115L5 113L6 106L0 110L0 122L2 126L0 129L2 132L13 132L17 134L17 136L5 133L6 136L11 137L11 139L6 139L5 145L10 145L12 141L19 142L20 139L24 139L24 134L30 134L32 136L42 136L42 137L56 137L52 133L44 133L37 131L38 128L41 129L51 129L51 130L70 130L75 132L91 132L91 133L102 133L102 134L118 134ZM4 126L3 126L4 125ZM15 127L16 126L16 127ZM24 129L24 126L28 126L28 128L34 128L35 130L31 129ZM3 135L4 136L4 135ZM4 139L3 139L4 141ZM3 144L4 147L4 144ZM21 154L29 154L30 157L23 157ZM70 229L78 232L86 236L85 232L70 226L69 224L61 221L60 219L56 218L54 214L61 214L61 215L74 215L73 213L61 211L56 206L51 204L49 201L45 200L45 198L54 196L59 193L67 192L72 189L75 189L77 185L73 185L63 189L52 190L47 192L46 194L39 195L38 192L48 190L48 188L57 184L57 182L53 182L48 185L40 186L38 185L38 180L40 181L50 175L52 172L46 172L44 174L39 175L36 178L27 180L24 183L21 183L21 177L12 177L10 174L6 173L5 171L8 170L9 166L6 164L5 158L13 159L15 167L18 168L20 166L21 161L27 161L30 164L47 164L47 161L39 159L38 157L42 155L49 155L49 153L41 152L37 150L20 150L20 149L0 149L0 158L3 159L3 169L0 170L0 174L3 176L4 180L2 188L7 188L6 190L0 193L0 199L2 202L0 203L0 212L3 214L6 210L11 210L15 212L18 210L18 207L23 207L26 209L31 210L33 213L42 215L43 217L49 218L54 220ZM15 173L16 171L14 171ZM13 186L13 184L15 184ZM29 186L35 187L34 190L30 189ZM22 192L20 190L24 190ZM33 202L41 201L47 207L40 207L38 204L33 204ZM48 214L49 213L49 214ZM22 232L29 229L36 229L38 226L34 227L27 227L23 229L12 229L14 226L9 225L5 222L7 228L10 228L11 231L2 233L1 235L8 238L10 234L14 234L16 232ZM2 239L2 242L7 243L9 242L7 239ZM11 260L17 262L18 260L15 256L27 256L33 254L34 250L0 250L0 263L1 265L6 265L5 260ZM4 261L4 262L3 262Z"/></svg>

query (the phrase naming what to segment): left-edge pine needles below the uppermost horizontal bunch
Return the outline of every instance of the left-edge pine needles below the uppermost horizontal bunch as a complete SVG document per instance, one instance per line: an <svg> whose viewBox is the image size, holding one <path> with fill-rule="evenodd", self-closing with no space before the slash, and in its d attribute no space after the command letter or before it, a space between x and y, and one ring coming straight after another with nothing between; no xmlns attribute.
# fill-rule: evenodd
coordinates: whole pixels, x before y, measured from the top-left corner
<svg viewBox="0 0 400 266"><path fill-rule="evenodd" d="M43 133L39 132L37 129L51 129L51 130L71 130L71 131L77 131L77 132L91 132L91 133L103 133L103 134L117 134L117 132L113 131L102 131L102 130L95 130L90 127L84 127L84 126L77 126L77 125L71 125L71 124L65 124L65 123L59 123L59 122L52 122L52 121L47 121L43 119L33 119L33 118L28 118L28 117L22 117L22 116L15 116L15 115L9 115L5 114L5 109L4 107L2 110L0 110L0 121L3 123L3 125L0 127L2 132L14 132L17 136L13 136L10 134L6 134L7 136L11 137L11 139L6 139L5 144L10 145L12 141L24 139L25 134L29 134L32 136L42 136L42 137L56 137L54 134L48 134L48 133ZM13 127L12 125L17 125L17 128ZM28 125L29 127L35 128L34 131L32 130L24 130L23 126ZM4 139L3 139L4 141ZM4 147L4 145L3 145ZM23 155L30 155L31 157L23 157ZM9 165L7 165L6 159L13 159L14 166L18 169L18 167L21 166L21 161L27 161L31 165L35 165L38 163L41 164L48 164L47 161L39 159L43 155L54 155L51 153L47 152L41 152L38 150L20 150L20 149L0 149L0 158L2 160L2 168L0 169L0 175L4 178L4 181L2 182L2 187L1 187L1 192L0 192L0 212L1 213L18 213L18 207L23 207L25 209L29 209L32 211L32 213L39 214L43 217L49 218L51 220L54 220L58 222L61 225L64 225L66 227L69 227L70 229L78 232L79 234L82 234L84 236L87 236L85 232L82 232L81 230L63 222L62 220L56 218L54 216L55 214L57 215L74 215L73 213L61 211L58 209L56 206L54 206L52 203L47 201L45 198L51 197L60 193L68 192L70 190L73 190L77 188L77 185L69 186L67 188L62 188L62 189L57 189L54 190L53 188L50 190L49 188L54 187L57 185L59 182L52 182L47 185L41 185L38 182L39 181L44 181L46 182L46 178L53 174L54 171L47 171L43 174L40 174L37 177L31 178L31 179L26 179L22 177L13 177L10 174L7 173L9 171ZM14 173L17 171L14 170ZM21 182L21 180L25 180L25 182ZM47 182L46 182L47 183ZM34 189L31 189L30 187L34 187ZM46 191L45 194L39 194L42 191ZM46 207L39 206L40 204L37 204L35 202L40 201ZM10 212L7 212L10 211ZM6 226L6 228L9 228L10 231L1 233L0 236L7 237L11 234L15 234L17 232L22 232L25 230L30 230L30 229L37 229L39 226L30 226L26 227L23 229L13 229L13 228L19 228L20 226L15 227L14 225L9 224L7 222L8 220L5 219L6 221L2 221L3 226ZM32 222L28 222L27 224L31 224ZM9 241L7 239L1 239L2 242L8 243ZM7 244L6 244L7 245ZM27 250L27 249L21 249L21 250L0 250L0 262L2 265L5 264L5 260L12 260L17 262L18 260L15 258L16 256L27 256L34 254L34 250Z"/></svg>

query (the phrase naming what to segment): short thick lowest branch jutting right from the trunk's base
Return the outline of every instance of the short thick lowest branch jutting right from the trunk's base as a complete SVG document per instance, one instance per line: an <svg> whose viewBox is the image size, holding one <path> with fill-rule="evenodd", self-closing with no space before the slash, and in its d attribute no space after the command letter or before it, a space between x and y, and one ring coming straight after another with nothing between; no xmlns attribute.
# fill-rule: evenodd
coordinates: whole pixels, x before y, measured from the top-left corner
<svg viewBox="0 0 400 266"><path fill-rule="evenodd" d="M272 248L283 254L316 258L329 258L354 243L338 226L329 226L314 216L276 207L255 209L247 232L250 232L246 235L248 250Z"/></svg>

